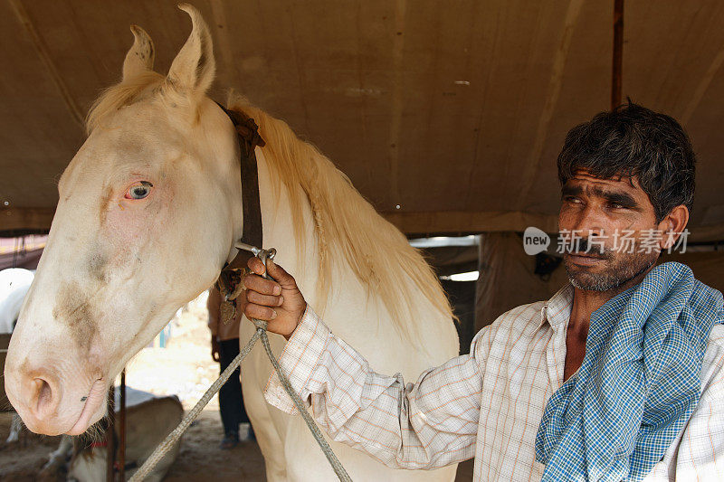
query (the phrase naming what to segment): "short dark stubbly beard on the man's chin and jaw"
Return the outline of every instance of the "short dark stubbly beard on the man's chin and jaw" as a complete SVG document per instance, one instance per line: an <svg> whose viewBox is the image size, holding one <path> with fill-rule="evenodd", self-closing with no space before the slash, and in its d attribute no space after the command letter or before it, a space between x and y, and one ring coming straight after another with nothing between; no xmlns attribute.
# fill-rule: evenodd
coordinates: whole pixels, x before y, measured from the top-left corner
<svg viewBox="0 0 724 482"><path fill-rule="evenodd" d="M586 239L581 239L576 252L598 256L605 263L605 269L602 272L590 272L585 267L575 265L570 257L564 255L564 264L568 280L571 284L587 291L608 291L619 288L636 278L643 272L650 269L659 258L659 251L651 250L651 252L638 251L638 246L633 247L633 252L623 252L605 249L590 249Z"/></svg>

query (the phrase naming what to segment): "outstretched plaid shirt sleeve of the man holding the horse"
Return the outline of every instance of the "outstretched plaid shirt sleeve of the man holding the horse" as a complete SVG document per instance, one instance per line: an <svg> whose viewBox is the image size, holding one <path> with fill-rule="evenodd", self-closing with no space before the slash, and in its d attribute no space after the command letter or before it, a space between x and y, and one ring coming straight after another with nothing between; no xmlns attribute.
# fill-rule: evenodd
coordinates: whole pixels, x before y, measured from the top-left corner
<svg viewBox="0 0 724 482"><path fill-rule="evenodd" d="M405 385L400 374L373 372L354 349L329 332L308 307L280 364L314 418L332 439L392 468L440 468L475 455L481 410L479 357L488 330L469 355L422 373ZM483 363L484 365L484 363ZM267 402L294 413L276 373Z"/></svg>

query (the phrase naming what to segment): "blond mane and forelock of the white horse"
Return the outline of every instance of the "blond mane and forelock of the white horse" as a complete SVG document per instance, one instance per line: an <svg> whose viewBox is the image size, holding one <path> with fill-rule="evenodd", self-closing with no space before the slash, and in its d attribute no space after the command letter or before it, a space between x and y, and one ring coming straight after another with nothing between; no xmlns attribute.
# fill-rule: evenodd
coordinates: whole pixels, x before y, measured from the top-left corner
<svg viewBox="0 0 724 482"><path fill-rule="evenodd" d="M86 121L89 133L111 112L164 89L163 79L155 72L147 72L105 90L90 109ZM232 94L227 109L241 111L259 125L266 141L264 157L275 171L276 182L283 184L290 196L298 240L304 239L303 203L310 204L319 244L319 306L315 308L323 312L327 304L329 290L333 288L332 269L338 262L330 253L339 253L368 293L382 299L403 335L413 335L411 324L405 321L420 315L411 291L405 289L409 281L440 312L441 322L455 318L439 279L421 252L376 213L327 156L297 137L286 122L273 118L242 96ZM303 250L303 246L298 246Z"/></svg>

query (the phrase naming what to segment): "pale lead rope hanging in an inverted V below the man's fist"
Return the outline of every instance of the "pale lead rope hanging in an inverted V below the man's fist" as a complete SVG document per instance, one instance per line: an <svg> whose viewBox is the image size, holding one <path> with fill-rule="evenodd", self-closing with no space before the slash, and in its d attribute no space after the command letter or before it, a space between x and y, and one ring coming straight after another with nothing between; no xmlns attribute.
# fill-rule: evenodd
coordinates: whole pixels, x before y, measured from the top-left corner
<svg viewBox="0 0 724 482"><path fill-rule="evenodd" d="M324 436L322 436L322 432L319 430L319 427L317 427L317 424L311 418L310 412L307 411L307 407L304 405L304 402L301 401L300 396L291 387L291 383L289 382L289 379L287 379L286 375L281 372L281 366L279 362L274 357L274 354L271 353L269 337L266 334L266 322L253 318L252 322L254 326L256 326L256 332L249 340L249 343L247 343L243 347L242 351L236 355L236 357L233 359L233 362L226 367L226 370L224 370L224 373L219 376L218 380L216 380L209 387L209 389L206 390L204 396L201 397L201 400L196 402L194 408L186 413L186 416L178 424L176 429L168 434L167 438L164 439L164 441L161 442L156 450L153 451L150 457L146 459L141 468L139 468L138 471L133 474L133 477L130 477L129 482L140 482L148 476L150 471L153 470L154 467L156 467L156 464L161 460L161 458L166 455L167 451L176 444L178 439L181 438L181 435L183 435L188 426L191 425L191 422L195 421L195 418L198 417L198 414L201 413L201 411L204 409L206 403L211 400L211 397L213 397L214 394L221 389L222 385L226 383L236 367L242 363L244 357L249 354L250 351L252 351L253 345L259 338L262 338L262 345L264 345L264 350L269 356L271 365L274 367L277 375L279 376L279 381L281 382L281 385L284 387L284 390L289 393L289 396L291 397L292 402L294 402L294 405L297 407L297 410L300 411L301 417L307 423L307 427L310 428L312 436L315 440L317 440L319 448L322 449L325 457L327 457L327 459L329 460L329 464L332 466L332 469L334 469L335 474L337 474L337 477L339 477L339 480L341 480L342 482L352 482L352 478L349 477L349 474L347 473L345 468L342 467L342 464L339 462L339 459L332 451L332 448L329 447L329 443L327 443L327 440L324 439Z"/></svg>

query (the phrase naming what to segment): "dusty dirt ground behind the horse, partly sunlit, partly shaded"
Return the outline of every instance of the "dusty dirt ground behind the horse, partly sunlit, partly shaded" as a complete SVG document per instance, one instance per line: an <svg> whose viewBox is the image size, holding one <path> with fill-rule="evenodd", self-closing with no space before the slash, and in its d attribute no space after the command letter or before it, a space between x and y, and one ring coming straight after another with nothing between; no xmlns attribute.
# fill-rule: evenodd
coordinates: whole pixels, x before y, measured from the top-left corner
<svg viewBox="0 0 724 482"><path fill-rule="evenodd" d="M219 373L218 364L210 356L209 332L205 324L205 296L202 296L176 314L165 348L159 346L157 338L153 346L144 348L129 362L126 374L129 386L158 395L176 394L186 410L193 407ZM214 396L186 431L167 481L265 479L262 452L256 442L242 442L231 450L218 448L223 435L218 406ZM59 475L41 474L48 455L58 447L60 437L41 437L24 431L20 442L8 445L5 439L11 420L10 413L0 413L0 480L62 480ZM471 462L461 464L457 480L472 480Z"/></svg>

